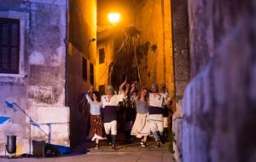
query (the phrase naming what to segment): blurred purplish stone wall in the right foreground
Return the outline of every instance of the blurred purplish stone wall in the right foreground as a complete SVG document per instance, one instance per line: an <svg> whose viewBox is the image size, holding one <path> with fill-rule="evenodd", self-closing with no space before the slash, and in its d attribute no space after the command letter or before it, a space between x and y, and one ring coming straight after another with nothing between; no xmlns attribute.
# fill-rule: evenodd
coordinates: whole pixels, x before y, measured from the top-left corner
<svg viewBox="0 0 256 162"><path fill-rule="evenodd" d="M189 1L183 161L256 160L256 2Z"/></svg>

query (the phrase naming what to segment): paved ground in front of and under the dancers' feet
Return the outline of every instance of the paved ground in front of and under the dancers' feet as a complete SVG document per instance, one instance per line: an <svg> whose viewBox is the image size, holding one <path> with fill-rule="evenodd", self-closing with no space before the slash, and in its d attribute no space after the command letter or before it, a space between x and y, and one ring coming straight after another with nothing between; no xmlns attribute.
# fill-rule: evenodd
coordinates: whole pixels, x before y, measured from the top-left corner
<svg viewBox="0 0 256 162"><path fill-rule="evenodd" d="M125 145L119 144L116 150L105 146L96 150L91 143L84 143L76 148L73 153L61 158L23 158L23 159L3 159L0 162L172 162L171 153L168 151L168 143L163 148L154 148L154 142L148 142L147 148L141 148L138 142Z"/></svg>

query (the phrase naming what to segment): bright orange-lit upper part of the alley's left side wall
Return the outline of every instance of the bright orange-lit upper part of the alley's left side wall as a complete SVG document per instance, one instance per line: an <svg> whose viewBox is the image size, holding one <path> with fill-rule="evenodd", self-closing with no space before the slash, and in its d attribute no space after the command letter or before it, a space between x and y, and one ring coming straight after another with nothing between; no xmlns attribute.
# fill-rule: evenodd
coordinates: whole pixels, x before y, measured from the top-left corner
<svg viewBox="0 0 256 162"><path fill-rule="evenodd" d="M69 42L83 55L96 61L96 0L69 1Z"/></svg>

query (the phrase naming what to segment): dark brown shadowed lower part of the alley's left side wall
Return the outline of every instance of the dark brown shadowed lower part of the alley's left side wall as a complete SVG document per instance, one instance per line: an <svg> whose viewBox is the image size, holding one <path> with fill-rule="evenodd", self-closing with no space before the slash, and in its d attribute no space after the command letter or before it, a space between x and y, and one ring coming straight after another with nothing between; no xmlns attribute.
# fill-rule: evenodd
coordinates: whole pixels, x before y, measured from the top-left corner
<svg viewBox="0 0 256 162"><path fill-rule="evenodd" d="M70 140L71 147L77 146L86 139L88 129L88 115L82 113L82 93L93 88L89 83L90 60L84 57L83 53L69 43L68 52L68 105L70 107ZM87 60L87 81L82 78L83 58Z"/></svg>

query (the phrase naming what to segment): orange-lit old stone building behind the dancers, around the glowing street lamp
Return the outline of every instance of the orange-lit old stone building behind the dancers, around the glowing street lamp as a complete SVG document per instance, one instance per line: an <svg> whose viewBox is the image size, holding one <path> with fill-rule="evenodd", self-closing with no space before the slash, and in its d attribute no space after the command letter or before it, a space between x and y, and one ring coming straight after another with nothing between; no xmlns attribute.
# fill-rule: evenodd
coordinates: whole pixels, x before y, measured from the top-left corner
<svg viewBox="0 0 256 162"><path fill-rule="evenodd" d="M98 9L97 53L100 57L104 51L106 58L106 62L100 64L100 68L113 66L113 70L100 70L99 76L96 77L96 81L99 80L97 85L118 86L123 82L124 76L128 75L130 82L133 79L141 80L142 85L148 88L154 82L166 84L171 94L174 94L171 2L98 1ZM113 11L122 13L122 17L117 25L110 26L105 17ZM125 42L129 30L127 28L130 26L134 26L138 31L135 38L137 46L134 47L137 50L137 58L135 54L131 55L130 40ZM124 42L125 45L122 47ZM121 52L115 59L120 47ZM127 68L130 68L131 72L128 72ZM105 73L101 75L100 72Z"/></svg>

